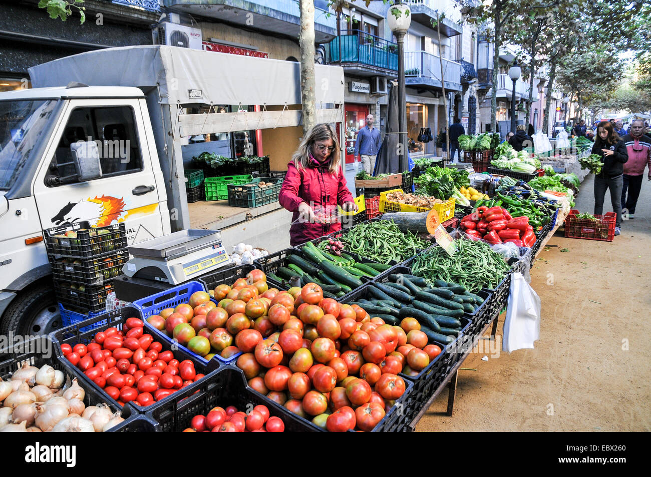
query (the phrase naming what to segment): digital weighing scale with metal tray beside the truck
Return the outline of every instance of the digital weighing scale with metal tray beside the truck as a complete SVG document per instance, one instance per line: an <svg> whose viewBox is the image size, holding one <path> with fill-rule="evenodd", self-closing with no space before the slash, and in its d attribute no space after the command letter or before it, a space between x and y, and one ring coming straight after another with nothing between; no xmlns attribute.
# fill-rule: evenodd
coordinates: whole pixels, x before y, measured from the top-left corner
<svg viewBox="0 0 651 477"><path fill-rule="evenodd" d="M220 230L180 230L129 247L127 277L180 284L230 263Z"/></svg>

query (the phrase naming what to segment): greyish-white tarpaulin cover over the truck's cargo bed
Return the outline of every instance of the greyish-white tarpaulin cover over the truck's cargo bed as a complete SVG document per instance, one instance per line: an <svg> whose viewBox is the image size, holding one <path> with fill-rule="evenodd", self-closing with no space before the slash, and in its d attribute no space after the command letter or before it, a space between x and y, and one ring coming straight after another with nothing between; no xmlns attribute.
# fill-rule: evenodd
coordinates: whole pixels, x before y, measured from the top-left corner
<svg viewBox="0 0 651 477"><path fill-rule="evenodd" d="M176 46L87 51L29 68L33 87L156 87L169 104L301 104L300 64ZM344 102L344 70L314 65L316 107ZM331 106L330 106L331 107Z"/></svg>

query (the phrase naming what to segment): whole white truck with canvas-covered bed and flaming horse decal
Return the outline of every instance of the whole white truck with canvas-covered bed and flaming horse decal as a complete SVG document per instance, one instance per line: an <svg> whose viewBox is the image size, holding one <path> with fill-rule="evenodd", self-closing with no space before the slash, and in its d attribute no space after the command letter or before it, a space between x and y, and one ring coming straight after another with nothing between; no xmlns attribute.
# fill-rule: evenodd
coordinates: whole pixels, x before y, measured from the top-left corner
<svg viewBox="0 0 651 477"><path fill-rule="evenodd" d="M343 70L315 68L317 122L341 122ZM183 138L276 129L282 139L301 124L295 62L137 46L29 72L34 89L0 93L0 335L61 327L42 230L124 222L132 245L191 228ZM262 107L217 113L222 104ZM209 112L186 114L196 105Z"/></svg>

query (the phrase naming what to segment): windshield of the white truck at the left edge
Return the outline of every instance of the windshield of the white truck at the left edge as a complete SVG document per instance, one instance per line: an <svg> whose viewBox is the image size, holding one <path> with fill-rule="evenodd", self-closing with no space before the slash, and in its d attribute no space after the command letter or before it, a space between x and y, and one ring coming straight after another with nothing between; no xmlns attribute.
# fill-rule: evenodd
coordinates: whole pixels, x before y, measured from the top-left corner
<svg viewBox="0 0 651 477"><path fill-rule="evenodd" d="M57 100L0 102L0 191L11 189L31 159Z"/></svg>

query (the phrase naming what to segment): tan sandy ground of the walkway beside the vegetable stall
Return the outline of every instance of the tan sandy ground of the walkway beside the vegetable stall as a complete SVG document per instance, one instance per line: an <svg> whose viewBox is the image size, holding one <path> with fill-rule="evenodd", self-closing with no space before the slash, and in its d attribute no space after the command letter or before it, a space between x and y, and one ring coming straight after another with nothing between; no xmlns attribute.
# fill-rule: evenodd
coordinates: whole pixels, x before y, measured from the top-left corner
<svg viewBox="0 0 651 477"><path fill-rule="evenodd" d="M612 211L609 193L605 202ZM591 174L576 206L594 211ZM651 430L651 182L615 241L564 238L561 229L547 245L531 270L542 302L535 349L501 351L502 314L500 346L484 337L462 365L454 415L444 390L417 431Z"/></svg>

